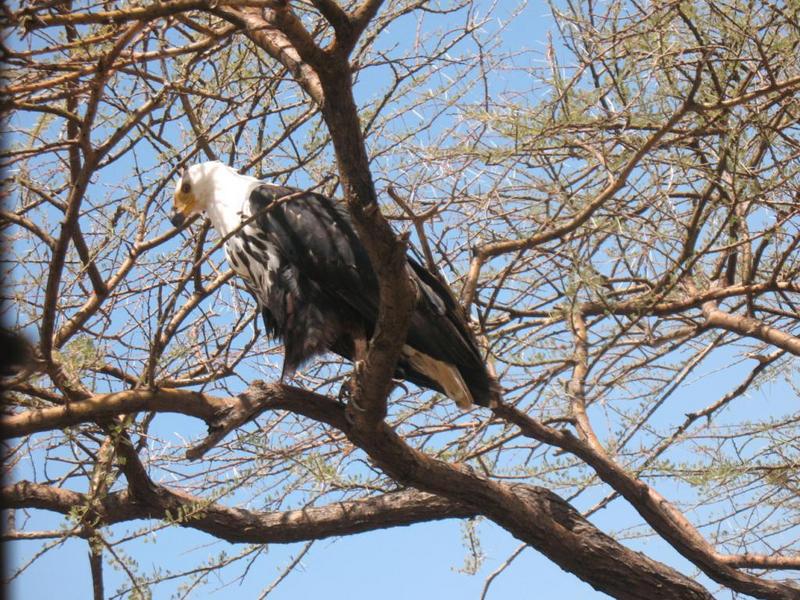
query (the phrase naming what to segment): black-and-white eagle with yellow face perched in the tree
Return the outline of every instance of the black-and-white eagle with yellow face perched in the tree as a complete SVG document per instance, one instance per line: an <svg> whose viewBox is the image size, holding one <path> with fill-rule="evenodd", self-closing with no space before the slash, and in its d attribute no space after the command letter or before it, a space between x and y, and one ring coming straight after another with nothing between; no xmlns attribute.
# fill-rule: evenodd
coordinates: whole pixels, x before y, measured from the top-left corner
<svg viewBox="0 0 800 600"><path fill-rule="evenodd" d="M283 342L281 381L328 351L363 360L378 319L378 280L342 205L210 161L183 171L170 220L181 227L198 213L225 239L226 259L256 298L267 333ZM494 404L499 386L460 305L437 276L406 258L419 293L395 377L462 409Z"/></svg>

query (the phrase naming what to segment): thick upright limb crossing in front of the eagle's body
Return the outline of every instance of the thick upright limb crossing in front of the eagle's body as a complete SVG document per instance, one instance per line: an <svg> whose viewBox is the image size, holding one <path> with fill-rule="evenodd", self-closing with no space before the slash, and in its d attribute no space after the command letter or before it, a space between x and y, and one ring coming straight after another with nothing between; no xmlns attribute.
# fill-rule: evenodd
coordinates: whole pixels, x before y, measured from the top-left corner
<svg viewBox="0 0 800 600"><path fill-rule="evenodd" d="M380 7L367 1L357 11L363 30ZM248 37L291 72L319 105L331 134L344 198L378 277L380 308L364 364L356 365L351 418L375 423L386 415L395 364L416 299L406 273L405 240L398 240L378 208L361 121L353 98L347 56L319 49L288 7L257 11L219 11L245 28ZM360 363L360 361L359 361Z"/></svg>

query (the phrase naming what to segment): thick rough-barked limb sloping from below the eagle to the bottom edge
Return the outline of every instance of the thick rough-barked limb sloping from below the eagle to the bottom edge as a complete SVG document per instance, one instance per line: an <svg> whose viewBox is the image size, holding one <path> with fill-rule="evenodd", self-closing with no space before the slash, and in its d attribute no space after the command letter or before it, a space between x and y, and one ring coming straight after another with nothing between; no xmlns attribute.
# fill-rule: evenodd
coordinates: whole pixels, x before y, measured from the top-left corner
<svg viewBox="0 0 800 600"><path fill-rule="evenodd" d="M248 394L256 400L269 398L270 387L254 384ZM640 600L657 594L711 598L695 581L607 536L549 490L503 485L466 467L433 459L408 446L383 422L374 427L350 426L345 409L322 396L313 402L286 397L279 403L281 408L340 429L344 423L348 438L396 481L474 507L563 569L615 598Z"/></svg>

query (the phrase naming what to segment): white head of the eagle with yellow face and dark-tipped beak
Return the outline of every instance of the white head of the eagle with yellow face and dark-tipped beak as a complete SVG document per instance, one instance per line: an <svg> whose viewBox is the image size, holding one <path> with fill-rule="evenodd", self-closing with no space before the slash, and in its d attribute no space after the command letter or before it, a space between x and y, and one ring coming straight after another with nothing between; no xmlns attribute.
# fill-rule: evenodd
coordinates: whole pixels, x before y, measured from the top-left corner
<svg viewBox="0 0 800 600"><path fill-rule="evenodd" d="M175 188L170 221L180 227L187 218L206 212L224 235L240 220L239 213L256 184L255 178L216 160L187 167Z"/></svg>

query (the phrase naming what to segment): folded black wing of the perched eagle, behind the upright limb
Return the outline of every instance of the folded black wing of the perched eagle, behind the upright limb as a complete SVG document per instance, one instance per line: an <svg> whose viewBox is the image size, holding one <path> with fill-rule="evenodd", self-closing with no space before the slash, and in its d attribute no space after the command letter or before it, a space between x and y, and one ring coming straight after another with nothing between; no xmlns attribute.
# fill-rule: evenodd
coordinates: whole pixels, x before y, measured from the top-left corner
<svg viewBox="0 0 800 600"><path fill-rule="evenodd" d="M280 202L289 195L296 197ZM364 334L371 336L378 318L378 281L347 211L320 194L269 184L257 187L250 200L251 211L258 213L257 225L282 258L297 269L298 276L313 286L318 297L330 303L339 318L358 319ZM407 258L420 298L406 342L456 366L475 401L488 404L496 384L486 372L460 306L435 275L413 257ZM332 341L329 349L352 358L351 348L340 340ZM414 372L410 365L399 367L406 379L442 391L436 382Z"/></svg>

